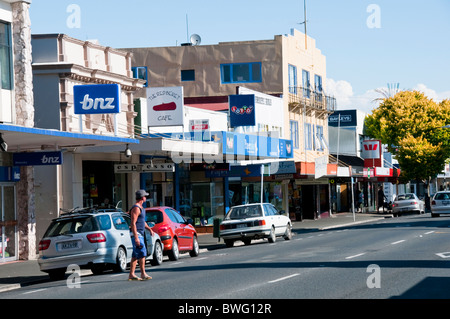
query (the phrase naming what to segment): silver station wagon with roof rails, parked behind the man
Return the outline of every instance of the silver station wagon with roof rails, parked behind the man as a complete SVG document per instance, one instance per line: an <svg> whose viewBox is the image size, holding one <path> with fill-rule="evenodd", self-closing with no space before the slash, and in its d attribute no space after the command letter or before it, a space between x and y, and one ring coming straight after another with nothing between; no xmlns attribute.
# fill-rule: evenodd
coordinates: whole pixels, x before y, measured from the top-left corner
<svg viewBox="0 0 450 319"><path fill-rule="evenodd" d="M117 209L78 209L52 220L39 242L40 270L51 279L62 279L69 265L124 272L131 261L133 246L130 216ZM148 257L153 265L162 263L162 242L158 234L146 234Z"/></svg>

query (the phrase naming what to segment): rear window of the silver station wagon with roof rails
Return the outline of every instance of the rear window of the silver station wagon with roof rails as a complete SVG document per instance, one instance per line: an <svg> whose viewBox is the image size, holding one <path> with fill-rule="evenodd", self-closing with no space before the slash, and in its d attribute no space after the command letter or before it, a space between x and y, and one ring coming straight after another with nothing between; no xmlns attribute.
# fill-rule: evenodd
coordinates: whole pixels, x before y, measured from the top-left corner
<svg viewBox="0 0 450 319"><path fill-rule="evenodd" d="M109 216L108 216L109 218ZM104 221L103 221L104 222ZM72 235L99 230L99 223L93 216L77 216L54 220L45 232L44 237Z"/></svg>

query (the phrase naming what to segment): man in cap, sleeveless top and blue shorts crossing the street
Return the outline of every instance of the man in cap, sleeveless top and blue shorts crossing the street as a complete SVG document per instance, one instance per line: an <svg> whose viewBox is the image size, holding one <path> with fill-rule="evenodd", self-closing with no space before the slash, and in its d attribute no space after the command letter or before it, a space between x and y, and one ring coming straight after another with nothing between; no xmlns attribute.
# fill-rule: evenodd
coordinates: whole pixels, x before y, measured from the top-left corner
<svg viewBox="0 0 450 319"><path fill-rule="evenodd" d="M143 204L149 194L140 189L136 192L136 203L131 207L131 242L133 243L133 254L131 256L130 274L128 280L148 280L152 279L145 272L145 257L147 256L147 248L145 247L144 231L147 228L150 235L153 235L152 229L145 222L145 210ZM137 263L141 269L141 277L135 275Z"/></svg>

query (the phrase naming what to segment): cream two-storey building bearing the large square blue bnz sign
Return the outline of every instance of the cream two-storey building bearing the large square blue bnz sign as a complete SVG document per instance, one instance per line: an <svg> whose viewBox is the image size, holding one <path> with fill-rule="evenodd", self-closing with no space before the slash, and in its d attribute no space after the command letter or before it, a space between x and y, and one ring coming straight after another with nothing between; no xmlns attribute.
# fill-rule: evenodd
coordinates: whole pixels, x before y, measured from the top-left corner
<svg viewBox="0 0 450 319"><path fill-rule="evenodd" d="M35 127L60 134L95 136L91 143L43 143L40 150L61 152L61 165L35 166L37 237L43 235L60 209L131 204L139 181L115 174L114 164L138 162L127 146L135 137L134 92L144 81L133 78L131 54L97 41L81 41L64 34L33 35ZM88 91L83 91L88 89ZM78 90L78 91L77 91ZM114 106L117 109L110 109ZM110 112L111 111L111 112ZM115 154L102 146L120 145ZM93 152L85 152L91 148Z"/></svg>

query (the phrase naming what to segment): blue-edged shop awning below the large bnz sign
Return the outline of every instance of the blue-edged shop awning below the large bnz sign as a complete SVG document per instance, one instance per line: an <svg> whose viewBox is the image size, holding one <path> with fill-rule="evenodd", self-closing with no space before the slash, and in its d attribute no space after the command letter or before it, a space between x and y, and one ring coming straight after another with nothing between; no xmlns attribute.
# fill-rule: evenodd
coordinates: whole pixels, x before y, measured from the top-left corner
<svg viewBox="0 0 450 319"><path fill-rule="evenodd" d="M8 152L139 144L139 140L134 138L63 132L8 124L0 124L0 134L8 145Z"/></svg>

